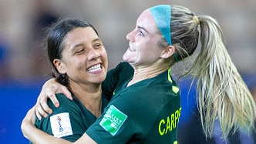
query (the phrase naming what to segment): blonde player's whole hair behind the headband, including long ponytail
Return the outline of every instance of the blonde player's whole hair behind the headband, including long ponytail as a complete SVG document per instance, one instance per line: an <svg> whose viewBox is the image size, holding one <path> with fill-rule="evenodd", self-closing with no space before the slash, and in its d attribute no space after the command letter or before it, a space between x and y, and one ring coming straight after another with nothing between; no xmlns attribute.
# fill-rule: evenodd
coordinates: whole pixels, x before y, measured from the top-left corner
<svg viewBox="0 0 256 144"><path fill-rule="evenodd" d="M254 99L227 53L216 20L207 15L195 18L189 9L172 5L170 28L180 61L194 53L200 36L200 53L184 75L197 79L197 102L205 134L211 136L216 119L220 120L224 139L232 129L254 129Z"/></svg>

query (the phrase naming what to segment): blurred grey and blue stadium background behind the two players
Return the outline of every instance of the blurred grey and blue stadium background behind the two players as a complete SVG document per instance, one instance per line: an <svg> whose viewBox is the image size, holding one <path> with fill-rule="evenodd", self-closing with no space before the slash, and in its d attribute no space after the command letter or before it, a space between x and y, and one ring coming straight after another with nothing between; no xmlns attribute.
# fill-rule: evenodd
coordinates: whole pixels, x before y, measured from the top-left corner
<svg viewBox="0 0 256 144"><path fill-rule="evenodd" d="M43 82L48 79L45 74L52 67L42 48L42 28L62 17L92 23L103 40L112 69L122 61L128 46L126 34L135 27L136 18L144 9L160 4L184 5L196 15L216 18L224 31L231 59L248 86L255 85L255 0L1 0L0 142L28 143L20 124L35 104ZM188 82L180 83L184 97L180 127L196 108L194 98L187 99Z"/></svg>

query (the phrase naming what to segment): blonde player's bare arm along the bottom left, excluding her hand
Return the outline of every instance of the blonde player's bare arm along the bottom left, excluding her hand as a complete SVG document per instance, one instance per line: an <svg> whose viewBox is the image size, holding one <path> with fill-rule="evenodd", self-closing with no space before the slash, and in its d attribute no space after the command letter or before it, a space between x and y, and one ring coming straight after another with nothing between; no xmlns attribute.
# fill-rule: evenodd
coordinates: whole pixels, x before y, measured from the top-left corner
<svg viewBox="0 0 256 144"><path fill-rule="evenodd" d="M35 106L29 110L27 115L22 121L22 132L25 138L29 139L33 143L72 143L66 141L65 139L56 138L54 136L49 135L41 131L40 129L36 129L34 126L35 123ZM96 143L91 139L86 133L73 143Z"/></svg>

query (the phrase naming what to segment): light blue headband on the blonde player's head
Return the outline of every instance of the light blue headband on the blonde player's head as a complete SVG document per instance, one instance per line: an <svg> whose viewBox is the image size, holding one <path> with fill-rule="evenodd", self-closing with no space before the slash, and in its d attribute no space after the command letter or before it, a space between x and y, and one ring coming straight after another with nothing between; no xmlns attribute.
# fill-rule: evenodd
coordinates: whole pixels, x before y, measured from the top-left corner
<svg viewBox="0 0 256 144"><path fill-rule="evenodd" d="M160 29L164 39L167 40L169 45L172 45L170 36L170 5L154 6L150 8L150 12L153 15L153 19L157 23L157 27Z"/></svg>

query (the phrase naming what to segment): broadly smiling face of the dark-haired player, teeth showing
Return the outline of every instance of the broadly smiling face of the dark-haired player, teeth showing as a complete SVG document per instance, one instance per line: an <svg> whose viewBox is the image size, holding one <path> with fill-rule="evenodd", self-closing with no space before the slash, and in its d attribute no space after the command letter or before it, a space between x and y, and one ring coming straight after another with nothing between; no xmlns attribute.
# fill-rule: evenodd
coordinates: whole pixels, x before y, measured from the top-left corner
<svg viewBox="0 0 256 144"><path fill-rule="evenodd" d="M63 39L62 59L55 59L58 71L69 76L70 86L100 84L106 78L106 49L91 27L75 28Z"/></svg>

